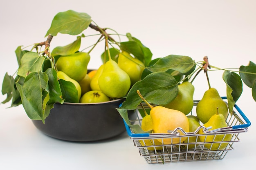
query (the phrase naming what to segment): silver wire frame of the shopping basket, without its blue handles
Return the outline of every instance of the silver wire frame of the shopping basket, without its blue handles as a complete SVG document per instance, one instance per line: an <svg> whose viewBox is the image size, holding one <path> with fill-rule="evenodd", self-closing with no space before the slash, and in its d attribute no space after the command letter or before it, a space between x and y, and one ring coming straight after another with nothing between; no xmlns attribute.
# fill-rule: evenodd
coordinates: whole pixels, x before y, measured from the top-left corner
<svg viewBox="0 0 256 170"><path fill-rule="evenodd" d="M195 114L195 106L197 105L198 101L194 101L194 107L191 111L191 115ZM147 107L145 105L145 107ZM139 106L138 106L138 109ZM232 126L237 126L241 124L245 124L245 121L239 117L237 114L237 110L234 109L232 113L229 113L226 119L226 123L228 125L228 128L224 128L223 130L211 130L207 131L208 128L205 128L203 126L200 126L200 128L204 128L206 131L205 135L213 135L213 140L218 135L222 135L222 141L200 141L196 140L193 142L189 142L189 139L192 137L195 137L198 139L200 135L196 132L194 133L184 133L185 135L170 135L170 134L150 134L148 137L132 137L130 136L130 139L132 139L134 146L138 148L139 154L141 157L144 157L147 163L167 163L167 162L178 162L178 161L202 161L202 160L218 160L223 159L227 152L229 150L233 150L233 144L234 142L240 141L238 138L240 132L247 132L247 127L245 128L238 128L238 129L232 129ZM139 112L137 111L137 119L136 120L130 120L132 124L139 124L141 125L141 116ZM126 126L126 128L129 128ZM131 128L129 128L130 132L134 133ZM208 132L208 133L207 133ZM129 133L128 133L129 134ZM231 139L228 141L225 141L226 135L231 135ZM201 135L202 136L202 135ZM155 140L159 139L159 141L163 141L164 138L177 138L180 139L182 137L187 137L188 142L180 142L178 144L155 144ZM146 144L145 142L150 139L151 144ZM213 144L219 144L219 147L217 149L212 149L211 147ZM220 148L221 145L227 145L224 149L223 147ZM208 147L205 147L205 145L208 145ZM210 145L210 148L209 148Z"/></svg>

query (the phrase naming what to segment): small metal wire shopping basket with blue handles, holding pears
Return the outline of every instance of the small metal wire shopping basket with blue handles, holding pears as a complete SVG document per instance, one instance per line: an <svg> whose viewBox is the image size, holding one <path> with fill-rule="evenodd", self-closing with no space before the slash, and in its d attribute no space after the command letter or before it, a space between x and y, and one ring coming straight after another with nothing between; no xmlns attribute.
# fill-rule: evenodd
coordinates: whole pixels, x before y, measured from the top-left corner
<svg viewBox="0 0 256 170"><path fill-rule="evenodd" d="M223 97L222 99L226 99ZM195 106L199 101L194 101L191 115L196 115ZM146 107L146 105L145 105ZM139 109L139 106L138 106ZM132 124L141 125L141 115L137 112L137 119L130 120ZM176 128L168 133L135 133L132 128L125 123L126 130L134 146L139 149L139 154L145 158L147 163L167 163L177 161L200 161L223 159L229 150L233 150L234 142L240 141L238 135L247 132L250 126L249 119L235 105L232 113L226 119L227 128L211 130L211 127L199 126L195 132L184 132L181 128ZM203 135L198 134L202 129ZM205 139L211 138L212 141L201 141L200 136ZM227 137L228 136L228 137ZM184 140L186 137L186 140ZM174 143L177 138L179 143ZM214 139L221 139L215 141ZM164 144L164 139L171 140L171 144ZM173 140L175 139L175 140ZM182 140L183 139L183 140Z"/></svg>

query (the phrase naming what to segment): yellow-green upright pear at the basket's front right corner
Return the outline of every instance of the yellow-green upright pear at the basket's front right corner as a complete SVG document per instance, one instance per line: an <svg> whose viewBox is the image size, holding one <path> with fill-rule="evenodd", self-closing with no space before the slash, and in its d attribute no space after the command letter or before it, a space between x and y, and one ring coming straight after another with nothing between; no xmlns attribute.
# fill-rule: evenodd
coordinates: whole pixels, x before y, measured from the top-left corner
<svg viewBox="0 0 256 170"><path fill-rule="evenodd" d="M218 110L218 108L217 108ZM218 128L225 128L227 127L227 123L225 121L225 117L223 114L219 114L218 111L216 114L212 115L209 121L207 121L204 124L204 127L212 127L210 130L218 129ZM204 146L210 150L223 150L227 147L229 144L228 142L224 143L213 143L213 144L207 144L207 142L221 142L221 141L230 141L232 135L231 134L221 134L221 135L204 135L204 132L202 129L199 130L200 141L205 142Z"/></svg>

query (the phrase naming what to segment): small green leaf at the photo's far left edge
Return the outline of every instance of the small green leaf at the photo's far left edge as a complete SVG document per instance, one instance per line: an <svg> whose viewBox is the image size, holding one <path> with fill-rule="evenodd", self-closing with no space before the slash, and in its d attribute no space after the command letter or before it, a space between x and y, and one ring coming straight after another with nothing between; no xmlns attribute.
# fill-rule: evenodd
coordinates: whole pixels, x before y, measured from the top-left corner
<svg viewBox="0 0 256 170"><path fill-rule="evenodd" d="M7 94L6 99L2 102L7 103L11 100L12 96L13 96L13 91L15 91L14 89L14 79L12 76L8 75L8 73L5 73L4 75L4 80L2 83L2 95Z"/></svg>

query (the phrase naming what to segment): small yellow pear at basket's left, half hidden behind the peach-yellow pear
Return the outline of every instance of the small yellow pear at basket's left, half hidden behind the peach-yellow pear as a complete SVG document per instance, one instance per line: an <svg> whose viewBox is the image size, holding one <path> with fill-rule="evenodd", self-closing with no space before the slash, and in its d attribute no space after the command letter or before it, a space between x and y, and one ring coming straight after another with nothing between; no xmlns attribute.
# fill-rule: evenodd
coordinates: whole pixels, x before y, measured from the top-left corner
<svg viewBox="0 0 256 170"><path fill-rule="evenodd" d="M141 121L141 129L144 132L148 132L150 130L153 130L153 122L151 119L150 115L146 115L143 117L142 121ZM139 140L140 144L142 146L153 146L153 145L160 145L160 146L156 146L154 147L147 147L148 150L163 150L162 142L157 141L156 139L144 139L144 140Z"/></svg>

